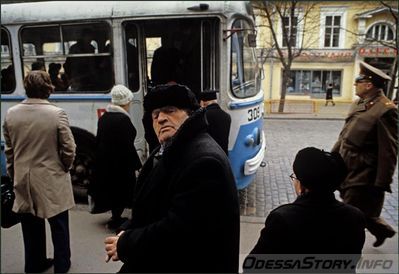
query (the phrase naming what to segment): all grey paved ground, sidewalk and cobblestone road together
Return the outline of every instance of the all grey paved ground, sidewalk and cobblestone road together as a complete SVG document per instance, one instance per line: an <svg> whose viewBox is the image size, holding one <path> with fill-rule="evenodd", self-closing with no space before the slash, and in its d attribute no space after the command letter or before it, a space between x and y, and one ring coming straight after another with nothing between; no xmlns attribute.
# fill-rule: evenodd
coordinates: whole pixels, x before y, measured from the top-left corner
<svg viewBox="0 0 399 274"><path fill-rule="evenodd" d="M257 174L256 184L251 187L249 197L253 197L250 205L256 208L256 213L244 208L241 216L240 231L240 266L258 240L268 212L280 204L295 199L289 174L292 172L292 162L295 153L306 146L315 146L329 150L335 142L343 125L343 120L294 120L266 119L266 167ZM393 184L393 193L387 195L383 216L387 221L398 226L398 180L397 174ZM251 199L252 200L252 199ZM252 203L252 204L251 204ZM129 216L129 211L124 212ZM87 205L77 205L70 211L70 231L72 249L72 267L70 273L115 273L120 262L105 263L104 238L112 234L106 229L105 223L110 213L92 215ZM51 234L47 227L47 253L53 256ZM398 237L388 239L381 248L373 248L374 237L366 233L366 243L363 254L376 256L377 259L394 258L395 265L384 273L397 273ZM211 248L211 247L210 247ZM18 224L10 229L1 229L1 273L22 273L24 264L21 226ZM240 267L241 269L241 267ZM52 268L46 273L51 273ZM377 271L378 272L378 271ZM377 273L370 270L359 273Z"/></svg>

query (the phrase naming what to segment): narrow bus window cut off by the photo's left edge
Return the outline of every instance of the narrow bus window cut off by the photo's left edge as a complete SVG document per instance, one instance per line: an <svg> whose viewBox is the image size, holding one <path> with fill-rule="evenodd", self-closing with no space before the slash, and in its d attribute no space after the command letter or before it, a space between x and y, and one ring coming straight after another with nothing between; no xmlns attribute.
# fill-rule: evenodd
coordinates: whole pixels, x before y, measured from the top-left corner
<svg viewBox="0 0 399 274"><path fill-rule="evenodd" d="M1 93L12 93L14 89L15 74L9 34L1 28Z"/></svg>

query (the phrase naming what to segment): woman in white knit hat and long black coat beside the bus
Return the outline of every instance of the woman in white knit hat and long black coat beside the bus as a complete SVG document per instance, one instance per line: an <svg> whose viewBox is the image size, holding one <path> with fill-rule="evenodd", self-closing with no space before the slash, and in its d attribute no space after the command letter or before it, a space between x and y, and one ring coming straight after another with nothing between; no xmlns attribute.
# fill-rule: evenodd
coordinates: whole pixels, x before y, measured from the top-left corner
<svg viewBox="0 0 399 274"><path fill-rule="evenodd" d="M136 129L128 112L133 93L123 85L116 85L111 96L112 104L98 120L96 164L89 193L96 206L95 213L111 210L107 225L116 229L127 220L122 213L131 207L135 172L141 168L141 161L134 146Z"/></svg>

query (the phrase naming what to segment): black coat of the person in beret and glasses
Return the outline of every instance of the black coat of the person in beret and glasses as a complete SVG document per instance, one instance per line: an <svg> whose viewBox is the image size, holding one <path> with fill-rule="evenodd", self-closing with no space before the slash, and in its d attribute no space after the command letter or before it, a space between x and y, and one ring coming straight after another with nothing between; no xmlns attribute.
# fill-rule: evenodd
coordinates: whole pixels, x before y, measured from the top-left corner
<svg viewBox="0 0 399 274"><path fill-rule="evenodd" d="M298 265L291 263L290 266L289 260L303 262L303 258L308 258L312 262L308 264L308 273L355 273L365 241L365 222L359 209L337 201L333 193L305 193L269 214L257 244L244 260L243 269L245 272L275 272L266 267L257 269L254 262L285 259L282 264L292 269L284 272L297 273ZM345 261L347 265L323 269L312 257L327 262L330 259Z"/></svg>

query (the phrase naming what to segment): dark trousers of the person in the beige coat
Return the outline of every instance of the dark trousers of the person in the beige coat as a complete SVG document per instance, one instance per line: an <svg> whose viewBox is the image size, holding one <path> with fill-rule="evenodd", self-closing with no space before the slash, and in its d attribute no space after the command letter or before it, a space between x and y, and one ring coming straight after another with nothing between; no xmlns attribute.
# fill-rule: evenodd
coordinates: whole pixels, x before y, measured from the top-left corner
<svg viewBox="0 0 399 274"><path fill-rule="evenodd" d="M32 214L21 214L25 247L25 272L37 272L47 258L44 219ZM54 247L54 272L65 273L71 265L68 211L47 219Z"/></svg>

